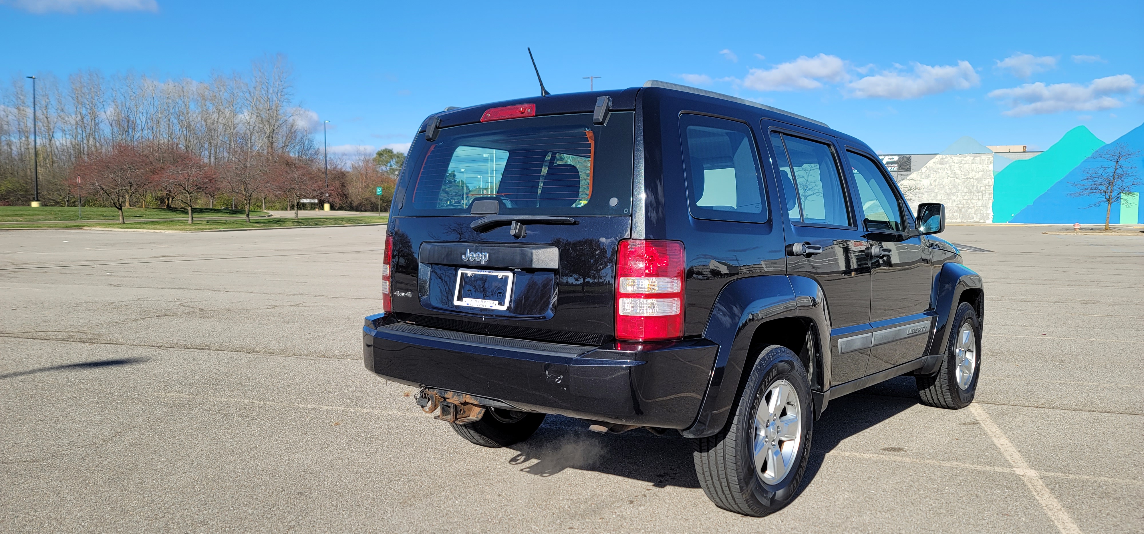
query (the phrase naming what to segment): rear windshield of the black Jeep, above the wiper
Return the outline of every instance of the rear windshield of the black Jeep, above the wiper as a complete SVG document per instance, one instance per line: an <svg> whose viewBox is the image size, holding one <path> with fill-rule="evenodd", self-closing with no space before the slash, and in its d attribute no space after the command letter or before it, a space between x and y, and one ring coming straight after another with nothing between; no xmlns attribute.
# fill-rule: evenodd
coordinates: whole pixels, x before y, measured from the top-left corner
<svg viewBox="0 0 1144 534"><path fill-rule="evenodd" d="M629 214L633 120L617 112L599 126L581 113L444 128L411 151L420 161L402 215L467 215L475 199L493 198L501 214Z"/></svg>

